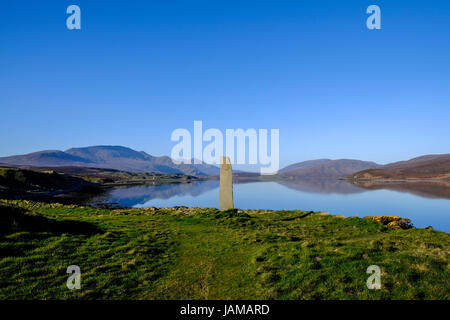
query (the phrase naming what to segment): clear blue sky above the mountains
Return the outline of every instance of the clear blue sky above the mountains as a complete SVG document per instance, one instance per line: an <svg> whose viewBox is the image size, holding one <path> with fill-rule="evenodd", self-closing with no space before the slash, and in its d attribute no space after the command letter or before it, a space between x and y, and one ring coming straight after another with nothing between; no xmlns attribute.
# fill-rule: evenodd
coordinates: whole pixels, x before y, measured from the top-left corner
<svg viewBox="0 0 450 320"><path fill-rule="evenodd" d="M280 129L281 166L450 153L450 1L4 1L0 88L0 156L170 155L194 120Z"/></svg>

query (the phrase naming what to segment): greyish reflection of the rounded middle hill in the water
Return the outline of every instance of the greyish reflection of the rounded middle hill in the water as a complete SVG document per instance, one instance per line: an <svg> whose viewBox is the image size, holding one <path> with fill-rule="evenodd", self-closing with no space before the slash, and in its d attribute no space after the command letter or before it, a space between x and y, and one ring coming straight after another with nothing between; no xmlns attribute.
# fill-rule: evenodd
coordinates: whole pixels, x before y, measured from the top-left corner
<svg viewBox="0 0 450 320"><path fill-rule="evenodd" d="M352 194L368 190L338 179L294 179L277 181L277 183L293 190L307 193Z"/></svg>

